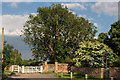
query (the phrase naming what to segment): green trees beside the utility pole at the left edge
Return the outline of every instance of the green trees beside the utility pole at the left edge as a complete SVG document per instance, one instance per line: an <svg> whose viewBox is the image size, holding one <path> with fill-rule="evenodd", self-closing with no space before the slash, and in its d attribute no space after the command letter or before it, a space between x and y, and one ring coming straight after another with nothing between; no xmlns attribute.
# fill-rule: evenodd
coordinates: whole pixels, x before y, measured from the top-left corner
<svg viewBox="0 0 120 80"><path fill-rule="evenodd" d="M3 49L3 68L10 65L22 65L21 53L5 41Z"/></svg>

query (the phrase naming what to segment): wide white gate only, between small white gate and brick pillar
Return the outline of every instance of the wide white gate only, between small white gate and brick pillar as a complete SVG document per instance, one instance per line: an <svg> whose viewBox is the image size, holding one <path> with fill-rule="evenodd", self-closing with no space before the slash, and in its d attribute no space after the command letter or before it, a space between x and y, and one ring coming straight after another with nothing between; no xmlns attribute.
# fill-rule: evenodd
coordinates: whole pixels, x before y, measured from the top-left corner
<svg viewBox="0 0 120 80"><path fill-rule="evenodd" d="M43 72L42 66L22 66L22 73L39 73Z"/></svg>

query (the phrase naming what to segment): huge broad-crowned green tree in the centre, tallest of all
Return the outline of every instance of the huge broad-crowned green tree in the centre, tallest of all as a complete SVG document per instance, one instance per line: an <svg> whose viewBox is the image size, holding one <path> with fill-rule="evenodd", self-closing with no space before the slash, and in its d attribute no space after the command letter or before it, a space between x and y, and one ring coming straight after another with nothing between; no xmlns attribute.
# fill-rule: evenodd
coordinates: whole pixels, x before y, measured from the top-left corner
<svg viewBox="0 0 120 80"><path fill-rule="evenodd" d="M23 28L24 41L36 59L66 62L80 41L93 40L97 32L93 23L60 4L39 7L37 12Z"/></svg>

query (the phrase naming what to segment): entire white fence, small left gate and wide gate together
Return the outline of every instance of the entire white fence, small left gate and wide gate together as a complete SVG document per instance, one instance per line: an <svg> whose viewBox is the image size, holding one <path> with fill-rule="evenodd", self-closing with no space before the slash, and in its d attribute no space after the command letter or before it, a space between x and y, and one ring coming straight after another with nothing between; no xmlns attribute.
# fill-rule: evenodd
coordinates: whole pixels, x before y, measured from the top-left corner
<svg viewBox="0 0 120 80"><path fill-rule="evenodd" d="M21 73L40 73L43 72L43 66L22 66L12 65L12 72Z"/></svg>

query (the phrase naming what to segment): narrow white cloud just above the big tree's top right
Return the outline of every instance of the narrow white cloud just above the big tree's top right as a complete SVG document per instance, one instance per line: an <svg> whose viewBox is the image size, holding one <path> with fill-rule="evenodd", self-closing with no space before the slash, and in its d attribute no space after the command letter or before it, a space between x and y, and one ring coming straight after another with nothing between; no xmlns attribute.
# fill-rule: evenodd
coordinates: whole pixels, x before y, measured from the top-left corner
<svg viewBox="0 0 120 80"><path fill-rule="evenodd" d="M69 8L69 9L80 8L81 10L86 10L86 8L84 7L84 5L82 5L80 3L70 3L70 4L64 4L64 3L62 3L61 5L63 5L64 7L67 6L67 8Z"/></svg>

